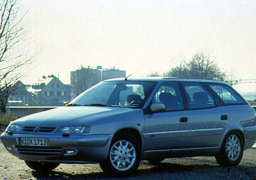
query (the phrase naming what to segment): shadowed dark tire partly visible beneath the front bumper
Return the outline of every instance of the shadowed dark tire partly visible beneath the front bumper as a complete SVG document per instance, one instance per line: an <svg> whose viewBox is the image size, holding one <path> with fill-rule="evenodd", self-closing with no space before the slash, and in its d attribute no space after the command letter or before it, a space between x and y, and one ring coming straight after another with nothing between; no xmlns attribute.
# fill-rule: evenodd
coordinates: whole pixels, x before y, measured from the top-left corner
<svg viewBox="0 0 256 180"><path fill-rule="evenodd" d="M60 165L58 162L25 161L25 163L30 169L36 171L51 171Z"/></svg>

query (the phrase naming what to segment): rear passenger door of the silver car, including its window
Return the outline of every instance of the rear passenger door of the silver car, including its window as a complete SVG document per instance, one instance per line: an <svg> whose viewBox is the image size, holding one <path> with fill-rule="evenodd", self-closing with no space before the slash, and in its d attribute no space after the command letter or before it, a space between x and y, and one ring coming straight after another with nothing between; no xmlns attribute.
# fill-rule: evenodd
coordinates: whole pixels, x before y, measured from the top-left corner
<svg viewBox="0 0 256 180"><path fill-rule="evenodd" d="M188 102L190 148L219 146L229 125L228 110L200 82L182 82Z"/></svg>

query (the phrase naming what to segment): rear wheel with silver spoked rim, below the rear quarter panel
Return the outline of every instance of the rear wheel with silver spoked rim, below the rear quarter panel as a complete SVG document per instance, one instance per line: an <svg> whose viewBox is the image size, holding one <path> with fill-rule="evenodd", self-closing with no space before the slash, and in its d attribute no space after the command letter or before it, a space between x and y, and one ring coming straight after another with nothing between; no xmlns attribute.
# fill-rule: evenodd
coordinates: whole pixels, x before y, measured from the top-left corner
<svg viewBox="0 0 256 180"><path fill-rule="evenodd" d="M223 140L220 152L215 156L221 166L237 166L244 154L244 142L237 132L230 132Z"/></svg>

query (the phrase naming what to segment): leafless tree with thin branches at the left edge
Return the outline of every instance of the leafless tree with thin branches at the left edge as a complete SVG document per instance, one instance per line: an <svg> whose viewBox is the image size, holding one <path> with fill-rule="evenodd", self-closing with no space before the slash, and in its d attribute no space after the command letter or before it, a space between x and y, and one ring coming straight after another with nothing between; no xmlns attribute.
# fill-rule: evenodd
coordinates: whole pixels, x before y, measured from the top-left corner
<svg viewBox="0 0 256 180"><path fill-rule="evenodd" d="M5 112L15 82L24 75L21 67L31 63L32 57L23 52L26 31L18 0L0 1L0 110Z"/></svg>

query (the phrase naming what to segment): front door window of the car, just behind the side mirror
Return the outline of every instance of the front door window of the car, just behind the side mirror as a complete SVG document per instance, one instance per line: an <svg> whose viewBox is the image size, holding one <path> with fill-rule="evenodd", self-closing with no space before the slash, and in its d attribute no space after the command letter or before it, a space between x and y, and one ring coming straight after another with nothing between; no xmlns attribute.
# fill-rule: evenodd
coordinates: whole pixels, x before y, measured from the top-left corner
<svg viewBox="0 0 256 180"><path fill-rule="evenodd" d="M180 87L177 82L165 82L157 90L153 102L163 102L165 111L184 109Z"/></svg>

